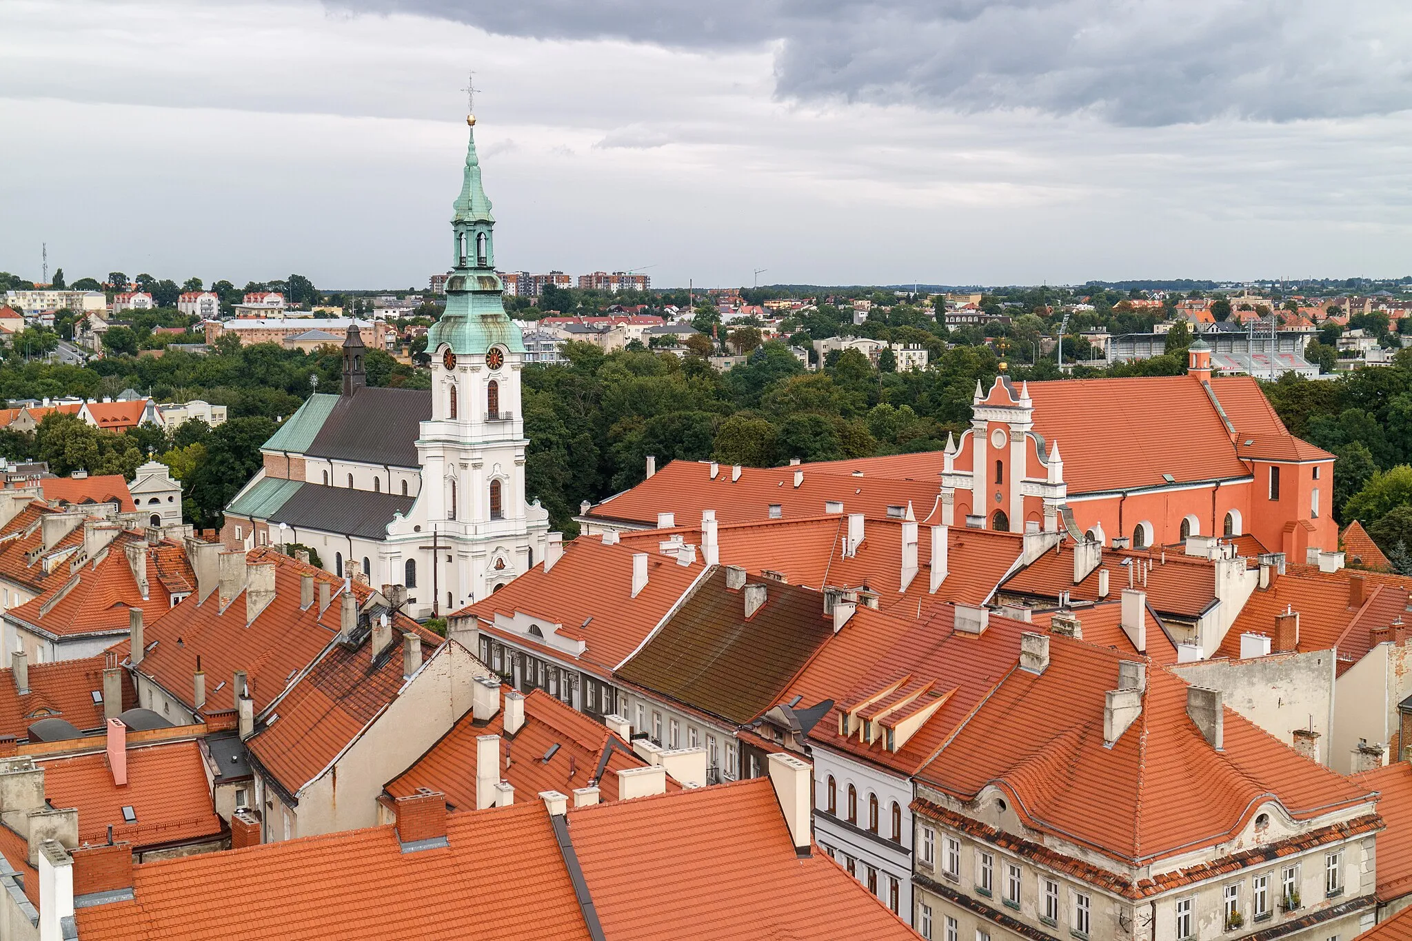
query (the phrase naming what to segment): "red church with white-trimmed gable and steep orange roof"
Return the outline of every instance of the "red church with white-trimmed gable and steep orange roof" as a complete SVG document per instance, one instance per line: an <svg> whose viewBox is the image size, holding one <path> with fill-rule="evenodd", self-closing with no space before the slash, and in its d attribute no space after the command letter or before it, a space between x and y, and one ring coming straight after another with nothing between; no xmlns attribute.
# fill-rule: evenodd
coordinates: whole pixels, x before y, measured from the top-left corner
<svg viewBox="0 0 1412 941"><path fill-rule="evenodd" d="M1284 426L1250 377L1186 375L976 385L971 427L947 440L942 522L1060 526L1110 546L1250 535L1303 563L1333 552L1333 454Z"/></svg>

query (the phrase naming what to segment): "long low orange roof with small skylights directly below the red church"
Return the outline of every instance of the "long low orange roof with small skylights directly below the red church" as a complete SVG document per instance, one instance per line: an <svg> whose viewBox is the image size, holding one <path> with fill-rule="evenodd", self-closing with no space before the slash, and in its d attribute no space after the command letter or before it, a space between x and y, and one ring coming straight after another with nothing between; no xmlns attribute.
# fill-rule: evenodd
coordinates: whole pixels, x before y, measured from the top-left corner
<svg viewBox="0 0 1412 941"><path fill-rule="evenodd" d="M1163 615L1196 618L1216 601L1214 564L1209 559L1187 556L1180 549L1104 549L1099 567L1075 584L1073 545L1069 542L1007 578L1000 585L1000 594L1058 600L1060 591L1067 591L1077 601L1099 601L1099 569L1108 573L1110 598L1120 597L1128 587L1131 571L1134 585L1147 591L1148 607Z"/></svg>

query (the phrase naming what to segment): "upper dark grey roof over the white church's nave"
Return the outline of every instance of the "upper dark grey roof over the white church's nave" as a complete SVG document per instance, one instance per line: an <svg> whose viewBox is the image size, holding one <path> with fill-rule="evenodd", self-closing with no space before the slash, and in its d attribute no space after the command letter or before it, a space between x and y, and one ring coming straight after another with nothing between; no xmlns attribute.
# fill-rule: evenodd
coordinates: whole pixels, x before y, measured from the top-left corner
<svg viewBox="0 0 1412 941"><path fill-rule="evenodd" d="M353 395L339 396L304 453L361 464L418 467L417 436L419 425L431 416L431 389L359 387Z"/></svg>

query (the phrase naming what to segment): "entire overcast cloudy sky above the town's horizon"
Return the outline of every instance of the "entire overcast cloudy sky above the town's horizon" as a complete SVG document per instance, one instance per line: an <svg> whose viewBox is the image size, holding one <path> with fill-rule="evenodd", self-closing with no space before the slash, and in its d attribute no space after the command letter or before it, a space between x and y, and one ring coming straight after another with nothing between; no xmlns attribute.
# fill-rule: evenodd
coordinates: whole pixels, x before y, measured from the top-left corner
<svg viewBox="0 0 1412 941"><path fill-rule="evenodd" d="M4 0L0 269L1412 274L1405 0Z"/></svg>

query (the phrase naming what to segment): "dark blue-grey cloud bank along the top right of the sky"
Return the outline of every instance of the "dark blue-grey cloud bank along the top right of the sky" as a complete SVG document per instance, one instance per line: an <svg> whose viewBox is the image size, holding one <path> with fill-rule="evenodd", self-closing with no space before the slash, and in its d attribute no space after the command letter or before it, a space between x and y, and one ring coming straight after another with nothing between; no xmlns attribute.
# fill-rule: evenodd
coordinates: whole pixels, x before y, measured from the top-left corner
<svg viewBox="0 0 1412 941"><path fill-rule="evenodd" d="M1412 107L1401 0L328 0L503 35L666 48L778 44L775 90L1115 124L1291 121Z"/></svg>

